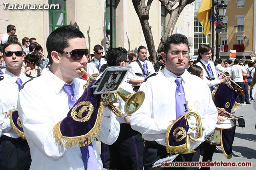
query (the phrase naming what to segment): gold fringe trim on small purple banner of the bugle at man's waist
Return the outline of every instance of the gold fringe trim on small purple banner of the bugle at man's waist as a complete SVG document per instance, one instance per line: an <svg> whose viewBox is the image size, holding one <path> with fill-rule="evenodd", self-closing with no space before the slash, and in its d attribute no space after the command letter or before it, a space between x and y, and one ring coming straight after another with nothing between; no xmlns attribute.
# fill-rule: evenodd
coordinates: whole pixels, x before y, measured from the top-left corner
<svg viewBox="0 0 256 170"><path fill-rule="evenodd" d="M172 126L174 125L174 123L176 123L176 121L180 120L184 115L180 115L180 117L178 117L176 120L171 121L172 124L168 126L167 131L166 131L166 135L165 135L165 149L166 152L170 153L170 154L175 154L175 153L180 153L180 152L185 152L187 145L186 143L180 145L180 146L175 146L172 147L169 145L169 135L170 131L172 129Z"/></svg>

